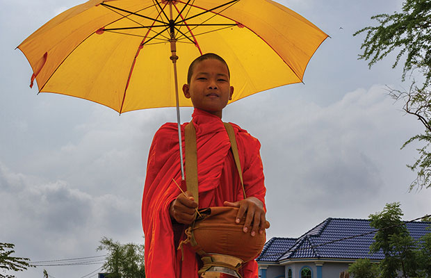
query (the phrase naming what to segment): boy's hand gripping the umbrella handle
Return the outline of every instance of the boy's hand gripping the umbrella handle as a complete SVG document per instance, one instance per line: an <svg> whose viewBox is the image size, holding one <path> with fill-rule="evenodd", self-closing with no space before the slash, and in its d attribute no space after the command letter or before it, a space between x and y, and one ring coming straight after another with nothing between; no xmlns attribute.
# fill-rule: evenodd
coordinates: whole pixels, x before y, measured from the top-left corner
<svg viewBox="0 0 431 278"><path fill-rule="evenodd" d="M197 203L191 193L188 191L185 193L186 195L180 193L177 199L170 203L169 214L172 220L182 224L191 224L195 220Z"/></svg>

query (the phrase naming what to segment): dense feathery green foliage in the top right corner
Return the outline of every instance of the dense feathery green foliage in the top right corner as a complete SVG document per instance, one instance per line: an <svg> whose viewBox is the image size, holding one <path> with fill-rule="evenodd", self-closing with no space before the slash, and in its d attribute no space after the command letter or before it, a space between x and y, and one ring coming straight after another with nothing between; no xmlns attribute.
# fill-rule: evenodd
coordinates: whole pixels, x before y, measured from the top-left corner
<svg viewBox="0 0 431 278"><path fill-rule="evenodd" d="M429 0L406 0L401 13L381 14L371 17L378 26L368 26L354 35L366 32L361 45L364 53L359 58L369 60L371 67L379 60L399 49L396 67L402 56L406 56L402 77L411 70L420 70L425 84L431 81L431 2Z"/></svg>

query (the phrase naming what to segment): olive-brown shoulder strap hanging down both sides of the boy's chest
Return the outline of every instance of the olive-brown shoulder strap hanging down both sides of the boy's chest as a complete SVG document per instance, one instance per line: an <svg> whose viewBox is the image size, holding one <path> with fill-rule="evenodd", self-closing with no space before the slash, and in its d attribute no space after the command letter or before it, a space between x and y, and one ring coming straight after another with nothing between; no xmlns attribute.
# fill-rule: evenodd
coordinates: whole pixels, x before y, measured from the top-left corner
<svg viewBox="0 0 431 278"><path fill-rule="evenodd" d="M232 154L234 154L234 160L236 169L238 170L239 178L241 180L241 186L243 188L244 198L245 188L243 182L243 170L241 169L241 161L238 155L238 146L236 145L235 131L231 124L223 122L229 141L231 142ZM193 194L195 202L199 204L199 190L197 189L197 147L196 147L196 129L192 122L189 122L185 128L185 147L186 147L186 186L188 192Z"/></svg>

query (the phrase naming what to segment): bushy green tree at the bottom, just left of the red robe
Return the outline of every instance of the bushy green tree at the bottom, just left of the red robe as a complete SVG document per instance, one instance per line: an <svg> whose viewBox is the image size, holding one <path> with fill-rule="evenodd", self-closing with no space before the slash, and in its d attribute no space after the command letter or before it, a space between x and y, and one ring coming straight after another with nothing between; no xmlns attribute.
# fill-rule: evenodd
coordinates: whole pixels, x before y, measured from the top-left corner
<svg viewBox="0 0 431 278"><path fill-rule="evenodd" d="M144 245L120 244L111 238L102 238L97 250L107 250L104 270L108 278L145 278Z"/></svg>

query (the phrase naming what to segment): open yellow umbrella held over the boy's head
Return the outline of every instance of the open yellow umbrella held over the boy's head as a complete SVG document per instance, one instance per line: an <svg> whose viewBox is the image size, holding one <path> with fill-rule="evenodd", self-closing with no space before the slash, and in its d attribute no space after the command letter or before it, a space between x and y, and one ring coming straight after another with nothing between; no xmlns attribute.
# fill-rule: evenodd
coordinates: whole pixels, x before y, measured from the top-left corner
<svg viewBox="0 0 431 278"><path fill-rule="evenodd" d="M90 0L57 15L17 48L39 92L88 99L119 113L177 106L179 125L179 106L192 104L178 94L178 84L186 83L197 56L225 58L232 102L302 82L325 38L270 0ZM180 129L179 136L182 152Z"/></svg>

